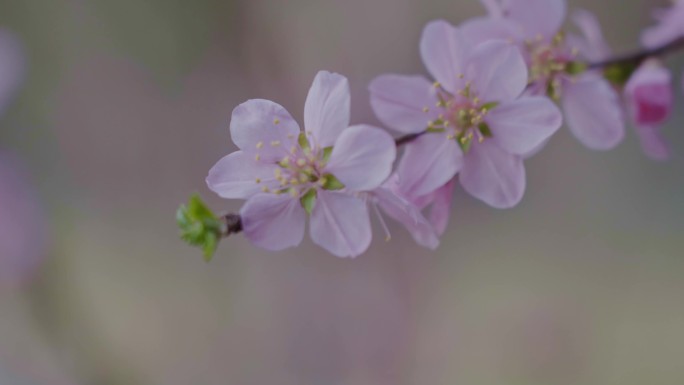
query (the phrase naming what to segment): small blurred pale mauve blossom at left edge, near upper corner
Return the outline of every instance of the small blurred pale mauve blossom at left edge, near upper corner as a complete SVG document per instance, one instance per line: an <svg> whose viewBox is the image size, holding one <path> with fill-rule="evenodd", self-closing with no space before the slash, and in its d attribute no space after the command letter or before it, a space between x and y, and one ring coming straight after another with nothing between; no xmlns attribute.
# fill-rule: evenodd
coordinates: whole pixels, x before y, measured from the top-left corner
<svg viewBox="0 0 684 385"><path fill-rule="evenodd" d="M0 29L0 114L5 112L24 77L24 53L17 38Z"/></svg>

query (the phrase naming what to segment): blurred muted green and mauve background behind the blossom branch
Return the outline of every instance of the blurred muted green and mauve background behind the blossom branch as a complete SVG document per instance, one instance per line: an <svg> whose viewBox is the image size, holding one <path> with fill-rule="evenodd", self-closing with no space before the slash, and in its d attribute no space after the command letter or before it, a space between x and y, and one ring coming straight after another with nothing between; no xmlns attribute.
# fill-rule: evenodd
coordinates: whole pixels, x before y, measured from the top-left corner
<svg viewBox="0 0 684 385"><path fill-rule="evenodd" d="M618 52L656 3L570 0ZM234 106L271 99L301 121L327 69L351 81L353 123L378 124L368 82L424 73L423 25L477 14L476 0L0 3L0 384L680 383L681 98L672 160L631 131L598 153L564 130L527 162L517 208L458 191L436 252L398 226L356 260L238 236L207 264L177 239L191 193L240 206L204 184L234 150Z"/></svg>

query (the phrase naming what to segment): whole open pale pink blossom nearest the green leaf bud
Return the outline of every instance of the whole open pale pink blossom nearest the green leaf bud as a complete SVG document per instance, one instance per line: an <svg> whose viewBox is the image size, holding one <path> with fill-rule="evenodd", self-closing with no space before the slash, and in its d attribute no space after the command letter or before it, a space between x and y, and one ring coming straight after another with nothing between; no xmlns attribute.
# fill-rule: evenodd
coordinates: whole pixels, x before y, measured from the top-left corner
<svg viewBox="0 0 684 385"><path fill-rule="evenodd" d="M240 148L209 172L223 198L247 199L240 211L245 236L281 250L298 245L310 216L312 240L339 257L363 253L371 242L365 192L390 175L392 137L349 126L347 79L321 71L304 110L305 130L280 105L250 100L233 111L230 133Z"/></svg>

